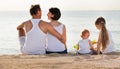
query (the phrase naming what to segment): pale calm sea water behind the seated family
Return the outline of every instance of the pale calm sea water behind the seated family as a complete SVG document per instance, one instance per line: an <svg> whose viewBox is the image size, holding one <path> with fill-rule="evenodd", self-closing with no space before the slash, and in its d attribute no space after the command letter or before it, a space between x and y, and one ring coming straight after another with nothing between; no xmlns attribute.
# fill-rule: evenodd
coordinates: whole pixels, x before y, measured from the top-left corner
<svg viewBox="0 0 120 69"><path fill-rule="evenodd" d="M83 29L90 31L89 39L97 40L99 31L94 22L99 16L106 19L106 27L111 31L115 43L114 51L120 51L120 11L62 11L61 13L59 21L66 25L69 52L75 52L73 45L81 39ZM21 53L16 27L28 19L31 19L28 11L0 11L0 55ZM48 21L47 11L43 11L42 19Z"/></svg>

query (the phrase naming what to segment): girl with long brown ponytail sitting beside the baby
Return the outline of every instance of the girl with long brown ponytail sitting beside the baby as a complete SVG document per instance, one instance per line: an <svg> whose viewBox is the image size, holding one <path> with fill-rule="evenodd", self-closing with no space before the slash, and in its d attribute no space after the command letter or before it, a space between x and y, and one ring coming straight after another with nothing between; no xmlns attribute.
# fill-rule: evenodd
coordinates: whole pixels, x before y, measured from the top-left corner
<svg viewBox="0 0 120 69"><path fill-rule="evenodd" d="M95 26L100 30L98 43L97 43L97 54L102 51L102 53L110 53L113 51L114 42L110 31L106 28L106 21L103 17L97 18L95 21Z"/></svg>

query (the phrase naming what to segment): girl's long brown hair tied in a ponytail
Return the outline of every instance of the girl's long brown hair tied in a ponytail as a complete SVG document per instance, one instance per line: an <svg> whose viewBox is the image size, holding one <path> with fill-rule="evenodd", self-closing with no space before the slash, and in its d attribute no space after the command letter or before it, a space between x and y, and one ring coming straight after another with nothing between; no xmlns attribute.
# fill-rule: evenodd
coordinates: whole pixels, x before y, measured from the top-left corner
<svg viewBox="0 0 120 69"><path fill-rule="evenodd" d="M103 17L99 17L95 21L95 25L101 25L101 32L99 34L101 38L98 38L98 40L100 41L100 45L102 45L103 51L106 49L106 46L109 43L109 36L105 24L106 21Z"/></svg>

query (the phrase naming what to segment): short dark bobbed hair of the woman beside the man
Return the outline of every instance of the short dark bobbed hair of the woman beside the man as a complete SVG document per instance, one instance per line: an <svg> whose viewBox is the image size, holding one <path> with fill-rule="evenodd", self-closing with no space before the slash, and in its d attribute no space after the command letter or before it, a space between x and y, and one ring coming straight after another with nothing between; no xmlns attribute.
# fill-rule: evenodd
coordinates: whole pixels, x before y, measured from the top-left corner
<svg viewBox="0 0 120 69"><path fill-rule="evenodd" d="M49 12L52 13L52 15L53 15L52 19L53 20L58 20L61 17L61 12L58 8L50 8Z"/></svg>

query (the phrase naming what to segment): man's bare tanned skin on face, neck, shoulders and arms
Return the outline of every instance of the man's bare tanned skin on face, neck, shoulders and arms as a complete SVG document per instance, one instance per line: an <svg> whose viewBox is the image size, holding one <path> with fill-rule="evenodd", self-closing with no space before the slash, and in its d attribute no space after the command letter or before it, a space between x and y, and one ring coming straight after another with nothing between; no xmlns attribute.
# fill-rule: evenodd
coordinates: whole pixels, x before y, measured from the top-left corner
<svg viewBox="0 0 120 69"><path fill-rule="evenodd" d="M36 15L32 15L33 19L40 19L41 18L41 11L38 11ZM17 27L17 30L19 31L19 36L25 35L25 33L29 32L32 29L33 25L30 20L23 22ZM55 37L57 37L61 42L65 43L64 37L59 34L51 24L45 22L45 21L40 21L39 23L39 28L43 31L43 33L47 34L47 32L51 33ZM25 31L25 33L24 33Z"/></svg>

